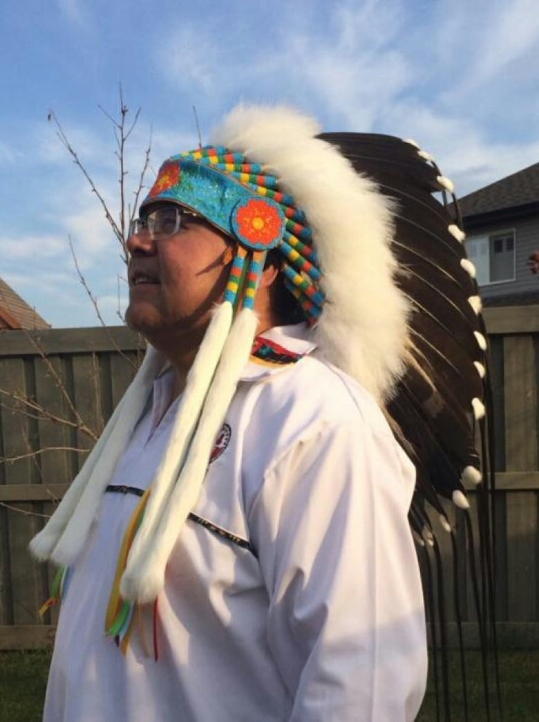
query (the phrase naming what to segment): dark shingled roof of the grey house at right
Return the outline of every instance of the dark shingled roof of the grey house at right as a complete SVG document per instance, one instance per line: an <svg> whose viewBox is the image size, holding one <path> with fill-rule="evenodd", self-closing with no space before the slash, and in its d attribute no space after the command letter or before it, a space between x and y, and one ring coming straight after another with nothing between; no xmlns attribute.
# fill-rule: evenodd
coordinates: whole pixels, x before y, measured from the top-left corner
<svg viewBox="0 0 539 722"><path fill-rule="evenodd" d="M539 163L507 175L459 199L463 217L539 203Z"/></svg>

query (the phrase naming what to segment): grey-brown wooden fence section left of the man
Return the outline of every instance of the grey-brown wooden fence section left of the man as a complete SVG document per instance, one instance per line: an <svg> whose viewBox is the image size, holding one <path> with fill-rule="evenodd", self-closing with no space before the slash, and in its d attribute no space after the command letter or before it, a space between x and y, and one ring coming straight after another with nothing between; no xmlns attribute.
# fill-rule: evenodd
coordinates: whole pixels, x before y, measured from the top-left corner
<svg viewBox="0 0 539 722"><path fill-rule="evenodd" d="M0 334L0 649L53 638L56 610L43 624L36 614L52 570L32 562L28 541L126 390L140 349L123 327Z"/></svg>

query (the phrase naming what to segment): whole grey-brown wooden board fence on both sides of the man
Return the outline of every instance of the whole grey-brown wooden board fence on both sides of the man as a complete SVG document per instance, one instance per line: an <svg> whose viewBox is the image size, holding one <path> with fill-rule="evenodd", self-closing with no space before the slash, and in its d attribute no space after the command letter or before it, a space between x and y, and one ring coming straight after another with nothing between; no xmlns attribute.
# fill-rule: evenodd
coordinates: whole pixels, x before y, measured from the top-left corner
<svg viewBox="0 0 539 722"><path fill-rule="evenodd" d="M496 410L499 638L538 645L539 306L487 309L485 316ZM43 623L36 613L48 597L51 570L30 560L27 544L78 471L140 355L140 339L123 327L0 333L0 650L53 639L56 612ZM472 514L474 496L472 490ZM448 513L463 547L462 514L449 505ZM450 536L439 538L450 558ZM465 635L474 645L464 565L459 575ZM450 598L449 565L444 585Z"/></svg>

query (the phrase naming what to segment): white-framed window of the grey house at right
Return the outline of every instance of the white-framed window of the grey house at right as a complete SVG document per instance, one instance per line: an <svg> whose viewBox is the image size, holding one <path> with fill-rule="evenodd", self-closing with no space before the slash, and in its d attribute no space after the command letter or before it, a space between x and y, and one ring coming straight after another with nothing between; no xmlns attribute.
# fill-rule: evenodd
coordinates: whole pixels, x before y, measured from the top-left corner
<svg viewBox="0 0 539 722"><path fill-rule="evenodd" d="M476 266L480 286L514 281L514 231L476 235L466 241L468 258Z"/></svg>

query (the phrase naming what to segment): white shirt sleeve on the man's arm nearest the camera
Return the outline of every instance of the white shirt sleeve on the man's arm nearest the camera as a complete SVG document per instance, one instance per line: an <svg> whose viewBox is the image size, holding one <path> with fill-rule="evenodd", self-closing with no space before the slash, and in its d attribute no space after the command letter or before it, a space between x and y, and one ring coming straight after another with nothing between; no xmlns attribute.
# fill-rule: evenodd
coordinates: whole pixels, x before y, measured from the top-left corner
<svg viewBox="0 0 539 722"><path fill-rule="evenodd" d="M365 422L324 427L264 479L250 531L289 722L408 721L426 684L413 466Z"/></svg>

